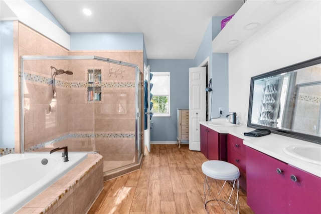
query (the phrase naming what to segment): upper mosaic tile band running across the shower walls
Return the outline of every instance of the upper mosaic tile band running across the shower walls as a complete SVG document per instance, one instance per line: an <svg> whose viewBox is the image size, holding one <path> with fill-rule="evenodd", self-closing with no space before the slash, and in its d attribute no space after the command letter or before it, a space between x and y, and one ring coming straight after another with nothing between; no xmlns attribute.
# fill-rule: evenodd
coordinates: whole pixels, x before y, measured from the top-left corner
<svg viewBox="0 0 321 214"><path fill-rule="evenodd" d="M31 73L24 73L25 80L44 83L44 84L51 84L52 78L44 77L36 74ZM135 83L133 82L102 82L100 84L88 83L88 82L68 82L68 81L61 81L56 80L55 84L61 87L73 88L73 87L93 87L100 86L100 87L135 87Z"/></svg>

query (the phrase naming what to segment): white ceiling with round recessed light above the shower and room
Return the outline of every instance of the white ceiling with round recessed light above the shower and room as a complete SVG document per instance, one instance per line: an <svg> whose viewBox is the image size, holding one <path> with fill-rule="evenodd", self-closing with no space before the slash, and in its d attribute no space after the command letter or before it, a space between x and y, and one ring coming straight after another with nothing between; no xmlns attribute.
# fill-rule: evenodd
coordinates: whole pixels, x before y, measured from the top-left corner
<svg viewBox="0 0 321 214"><path fill-rule="evenodd" d="M212 16L244 0L42 0L68 32L142 32L148 59L194 59ZM85 16L83 8L92 11Z"/></svg>

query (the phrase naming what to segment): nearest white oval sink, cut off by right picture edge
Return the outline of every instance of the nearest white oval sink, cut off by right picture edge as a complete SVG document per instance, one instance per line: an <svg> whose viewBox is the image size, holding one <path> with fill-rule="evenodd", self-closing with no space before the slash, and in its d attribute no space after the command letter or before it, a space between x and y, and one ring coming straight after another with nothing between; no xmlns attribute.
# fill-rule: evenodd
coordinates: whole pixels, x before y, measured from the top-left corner
<svg viewBox="0 0 321 214"><path fill-rule="evenodd" d="M321 145L289 145L283 151L301 160L321 165Z"/></svg>

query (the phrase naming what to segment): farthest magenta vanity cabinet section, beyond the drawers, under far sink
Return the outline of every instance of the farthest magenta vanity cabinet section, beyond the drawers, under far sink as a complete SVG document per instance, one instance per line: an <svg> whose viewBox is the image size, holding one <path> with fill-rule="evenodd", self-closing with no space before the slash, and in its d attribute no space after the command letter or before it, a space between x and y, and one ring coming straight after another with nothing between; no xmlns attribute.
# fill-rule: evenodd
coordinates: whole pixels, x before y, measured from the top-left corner
<svg viewBox="0 0 321 214"><path fill-rule="evenodd" d="M200 125L201 152L209 160L227 161L227 134Z"/></svg>

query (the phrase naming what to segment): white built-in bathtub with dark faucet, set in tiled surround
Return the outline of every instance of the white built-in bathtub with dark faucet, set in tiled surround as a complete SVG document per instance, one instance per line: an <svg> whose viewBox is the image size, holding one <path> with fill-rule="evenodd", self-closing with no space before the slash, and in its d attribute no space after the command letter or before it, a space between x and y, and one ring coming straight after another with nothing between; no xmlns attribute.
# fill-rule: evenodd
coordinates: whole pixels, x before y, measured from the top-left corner
<svg viewBox="0 0 321 214"><path fill-rule="evenodd" d="M68 162L63 162L59 151L52 154L15 153L0 157L0 213L16 212L86 159L87 153L69 152L68 156Z"/></svg>

